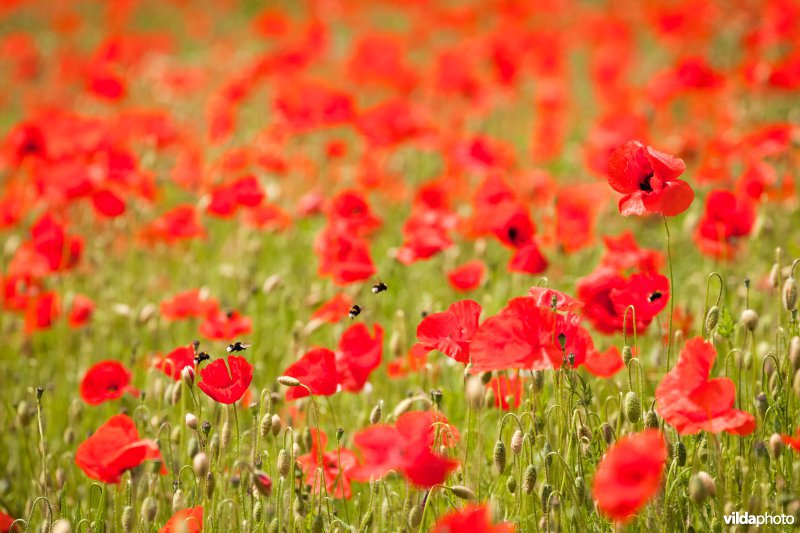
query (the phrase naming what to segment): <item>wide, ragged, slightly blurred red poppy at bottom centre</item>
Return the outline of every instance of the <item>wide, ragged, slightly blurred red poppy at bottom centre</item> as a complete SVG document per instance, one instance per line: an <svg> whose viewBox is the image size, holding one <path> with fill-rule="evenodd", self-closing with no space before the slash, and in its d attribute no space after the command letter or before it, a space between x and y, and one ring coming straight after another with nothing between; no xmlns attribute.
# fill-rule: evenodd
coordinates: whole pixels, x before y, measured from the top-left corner
<svg viewBox="0 0 800 533"><path fill-rule="evenodd" d="M356 433L353 442L364 461L351 470L351 478L370 481L395 470L417 487L443 483L458 461L434 453L431 446L454 439L458 439L458 432L444 415L432 411L404 413L394 426L377 424Z"/></svg>

